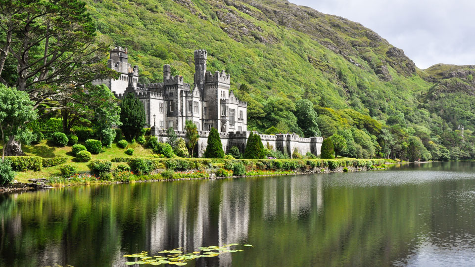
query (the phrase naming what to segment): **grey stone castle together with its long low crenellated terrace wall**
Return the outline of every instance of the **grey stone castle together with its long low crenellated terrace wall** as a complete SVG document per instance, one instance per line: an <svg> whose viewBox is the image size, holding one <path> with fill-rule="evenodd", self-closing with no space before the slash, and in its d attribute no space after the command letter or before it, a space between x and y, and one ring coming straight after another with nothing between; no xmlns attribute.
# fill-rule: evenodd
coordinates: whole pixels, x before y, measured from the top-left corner
<svg viewBox="0 0 475 267"><path fill-rule="evenodd" d="M233 146L244 152L250 132L247 131L247 103L239 101L230 90L231 77L224 71L206 72L206 50L194 51L194 83L184 83L182 76L171 76L170 65L163 66L163 83L139 83L139 67L128 63L127 49L110 50L108 67L119 72L118 79L96 80L94 85L105 84L117 98L135 93L143 103L150 134L160 141L168 138L167 129L173 128L185 137L185 122L191 120L197 127L199 139L195 146L202 156L211 127L218 130L223 150ZM258 133L255 133L258 134ZM283 153L297 149L300 153L320 155L323 138L302 138L296 134L260 134L264 146Z"/></svg>

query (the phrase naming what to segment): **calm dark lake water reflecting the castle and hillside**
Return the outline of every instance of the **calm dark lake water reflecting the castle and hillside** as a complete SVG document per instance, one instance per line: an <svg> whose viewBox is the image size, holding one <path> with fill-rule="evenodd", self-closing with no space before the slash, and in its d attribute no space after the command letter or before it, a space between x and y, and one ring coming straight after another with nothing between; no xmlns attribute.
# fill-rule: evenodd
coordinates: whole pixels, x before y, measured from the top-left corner
<svg viewBox="0 0 475 267"><path fill-rule="evenodd" d="M125 266L228 243L187 266L475 266L475 163L68 187L0 195L0 266Z"/></svg>

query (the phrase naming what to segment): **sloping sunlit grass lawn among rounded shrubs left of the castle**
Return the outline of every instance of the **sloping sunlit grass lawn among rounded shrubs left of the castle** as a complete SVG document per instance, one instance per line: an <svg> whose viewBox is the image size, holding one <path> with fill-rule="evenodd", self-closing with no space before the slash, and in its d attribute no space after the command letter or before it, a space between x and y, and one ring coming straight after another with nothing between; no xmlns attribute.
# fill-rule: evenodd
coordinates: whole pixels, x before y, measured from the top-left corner
<svg viewBox="0 0 475 267"><path fill-rule="evenodd" d="M68 160L65 164L72 165L76 167L79 172L89 171L88 163L84 162L74 162L74 156L71 153L71 146L59 147L54 145L51 141L42 140L41 143L37 145L23 145L23 152L27 156L38 156L43 158L54 158L54 157L66 157ZM125 154L127 148L134 149L134 155L129 156ZM115 157L147 157L153 154L152 150L149 148L144 148L141 144L138 143L129 143L126 148L120 148L116 143L112 144L111 148L102 147L102 151L98 155L92 155L92 160L95 159L105 159L111 160ZM120 163L112 163L112 167L117 166ZM49 178L53 174L59 174L59 168L61 165L42 168L40 172L27 171L27 172L17 172L15 179L20 182L28 182L28 179L31 178Z"/></svg>

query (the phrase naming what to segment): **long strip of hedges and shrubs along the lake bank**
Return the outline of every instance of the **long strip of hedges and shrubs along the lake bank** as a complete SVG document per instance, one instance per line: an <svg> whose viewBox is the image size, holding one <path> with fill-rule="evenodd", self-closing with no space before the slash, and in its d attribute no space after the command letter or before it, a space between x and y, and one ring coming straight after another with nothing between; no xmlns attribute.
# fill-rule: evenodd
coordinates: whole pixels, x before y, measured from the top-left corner
<svg viewBox="0 0 475 267"><path fill-rule="evenodd" d="M20 158L20 157L18 157ZM57 175L30 179L30 183L3 187L3 191L67 186L74 184L120 183L249 176L278 176L315 173L357 172L385 169L383 159L189 159L117 157L92 160L90 171L78 172L74 165L64 164L61 158L41 159L21 157L10 159L15 171L40 170L60 165ZM17 189L15 189L17 188Z"/></svg>

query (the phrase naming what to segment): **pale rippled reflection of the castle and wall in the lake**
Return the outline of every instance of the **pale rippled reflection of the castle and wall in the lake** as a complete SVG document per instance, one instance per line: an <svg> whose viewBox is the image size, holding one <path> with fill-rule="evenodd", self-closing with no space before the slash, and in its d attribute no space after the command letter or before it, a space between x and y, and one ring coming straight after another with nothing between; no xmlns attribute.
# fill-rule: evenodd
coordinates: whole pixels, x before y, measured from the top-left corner
<svg viewBox="0 0 475 267"><path fill-rule="evenodd" d="M279 183L285 184L280 186ZM251 193L256 194L258 191L261 194L262 214L259 216L265 221L276 217L298 220L309 213L312 204L317 204L315 206L319 211L323 208L321 183L321 179L302 179L297 176L266 178L260 183L261 188L251 189L251 183L244 180L209 180L193 188L184 188L195 192L174 196L172 205L167 203L170 198L159 197L160 202L149 231L150 252L153 254L177 247L193 251L202 246L243 244L247 242L249 230ZM279 191L278 188L285 189ZM194 212L190 214L190 210ZM197 266L206 263L211 263L211 266L231 266L231 254L222 254L218 258L198 261Z"/></svg>

